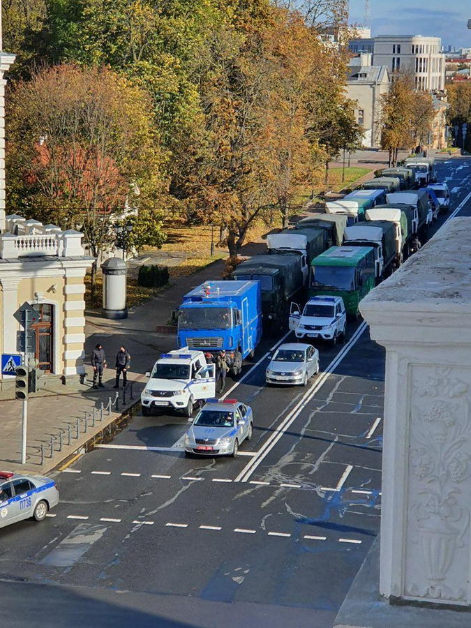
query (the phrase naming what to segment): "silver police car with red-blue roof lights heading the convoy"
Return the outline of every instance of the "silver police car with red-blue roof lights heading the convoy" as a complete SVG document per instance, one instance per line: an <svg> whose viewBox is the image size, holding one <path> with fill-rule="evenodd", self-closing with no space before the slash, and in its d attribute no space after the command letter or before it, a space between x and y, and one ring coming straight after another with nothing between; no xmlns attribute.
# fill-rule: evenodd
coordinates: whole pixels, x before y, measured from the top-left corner
<svg viewBox="0 0 471 628"><path fill-rule="evenodd" d="M185 455L232 456L251 440L253 412L237 399L209 399L185 435Z"/></svg>

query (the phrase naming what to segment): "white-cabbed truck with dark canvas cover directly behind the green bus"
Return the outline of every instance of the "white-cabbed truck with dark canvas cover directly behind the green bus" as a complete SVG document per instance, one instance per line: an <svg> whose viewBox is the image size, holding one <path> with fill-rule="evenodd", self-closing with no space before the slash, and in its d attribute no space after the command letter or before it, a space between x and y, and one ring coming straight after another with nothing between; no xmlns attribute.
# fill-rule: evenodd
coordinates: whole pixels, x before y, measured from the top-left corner
<svg viewBox="0 0 471 628"><path fill-rule="evenodd" d="M396 227L388 220L367 220L345 229L344 246L371 246L375 254L376 283L388 276L396 259Z"/></svg>

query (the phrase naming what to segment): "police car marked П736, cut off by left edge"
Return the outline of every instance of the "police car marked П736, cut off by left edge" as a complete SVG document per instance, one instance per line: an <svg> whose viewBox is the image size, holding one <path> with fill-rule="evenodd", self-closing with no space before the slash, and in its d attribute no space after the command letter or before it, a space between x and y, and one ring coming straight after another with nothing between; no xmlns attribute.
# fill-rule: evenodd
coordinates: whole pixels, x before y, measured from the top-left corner
<svg viewBox="0 0 471 628"><path fill-rule="evenodd" d="M0 528L30 517L43 521L58 503L59 491L49 477L0 471Z"/></svg>

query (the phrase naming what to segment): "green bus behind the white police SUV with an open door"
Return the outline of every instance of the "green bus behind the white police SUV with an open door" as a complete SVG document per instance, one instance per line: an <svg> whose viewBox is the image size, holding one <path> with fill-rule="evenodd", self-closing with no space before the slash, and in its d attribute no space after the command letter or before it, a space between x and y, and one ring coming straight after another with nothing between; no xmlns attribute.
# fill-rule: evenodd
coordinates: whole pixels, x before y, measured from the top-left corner
<svg viewBox="0 0 471 628"><path fill-rule="evenodd" d="M342 297L351 317L358 317L359 302L373 287L375 255L371 246L333 246L311 264L309 296Z"/></svg>

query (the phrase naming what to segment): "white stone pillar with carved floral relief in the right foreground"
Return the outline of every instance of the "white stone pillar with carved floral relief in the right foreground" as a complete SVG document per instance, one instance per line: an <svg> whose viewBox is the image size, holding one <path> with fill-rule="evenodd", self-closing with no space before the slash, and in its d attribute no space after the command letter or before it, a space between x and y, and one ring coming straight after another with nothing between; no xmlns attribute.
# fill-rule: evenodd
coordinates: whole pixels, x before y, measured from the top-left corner
<svg viewBox="0 0 471 628"><path fill-rule="evenodd" d="M380 594L391 602L471 607L470 232L471 218L449 220L361 303L387 350Z"/></svg>

